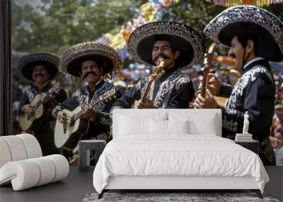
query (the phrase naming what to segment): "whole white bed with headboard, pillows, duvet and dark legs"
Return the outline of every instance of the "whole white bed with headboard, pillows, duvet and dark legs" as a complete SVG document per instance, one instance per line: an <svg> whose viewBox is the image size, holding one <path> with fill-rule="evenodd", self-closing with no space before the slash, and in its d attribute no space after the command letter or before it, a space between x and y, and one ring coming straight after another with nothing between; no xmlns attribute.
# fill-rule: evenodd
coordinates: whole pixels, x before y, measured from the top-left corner
<svg viewBox="0 0 283 202"><path fill-rule="evenodd" d="M100 197L109 189L250 189L261 196L268 181L258 155L221 138L219 109L115 110L113 140L93 172Z"/></svg>

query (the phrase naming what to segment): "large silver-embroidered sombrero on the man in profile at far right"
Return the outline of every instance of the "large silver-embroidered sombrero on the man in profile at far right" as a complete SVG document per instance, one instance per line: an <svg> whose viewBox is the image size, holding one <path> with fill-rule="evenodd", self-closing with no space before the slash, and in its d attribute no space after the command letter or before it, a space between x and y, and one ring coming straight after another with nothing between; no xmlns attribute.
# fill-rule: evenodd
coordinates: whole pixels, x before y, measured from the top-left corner
<svg viewBox="0 0 283 202"><path fill-rule="evenodd" d="M254 34L258 56L270 61L283 59L283 23L256 6L234 6L222 11L204 28L204 33L227 46L234 35Z"/></svg>

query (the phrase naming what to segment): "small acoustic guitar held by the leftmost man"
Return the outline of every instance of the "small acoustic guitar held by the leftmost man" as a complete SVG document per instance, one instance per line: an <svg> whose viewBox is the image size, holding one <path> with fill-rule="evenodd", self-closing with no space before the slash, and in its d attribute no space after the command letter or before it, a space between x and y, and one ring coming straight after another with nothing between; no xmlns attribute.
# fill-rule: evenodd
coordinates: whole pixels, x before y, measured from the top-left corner
<svg viewBox="0 0 283 202"><path fill-rule="evenodd" d="M57 91L59 87L60 84L59 82L57 82L46 93L46 95L52 97L52 94ZM24 113L19 117L19 122L22 130L36 132L40 128L42 121L44 121L48 116L47 106L42 103L42 94L37 94L30 105L35 108L35 114L33 116L30 116L27 113Z"/></svg>

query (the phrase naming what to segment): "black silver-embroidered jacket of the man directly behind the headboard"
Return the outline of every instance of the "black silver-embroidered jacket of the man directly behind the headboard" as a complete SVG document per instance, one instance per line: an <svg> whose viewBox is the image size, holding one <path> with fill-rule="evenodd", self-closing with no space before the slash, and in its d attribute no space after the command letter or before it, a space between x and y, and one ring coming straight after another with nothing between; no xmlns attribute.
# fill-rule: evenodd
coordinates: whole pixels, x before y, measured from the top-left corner
<svg viewBox="0 0 283 202"><path fill-rule="evenodd" d="M149 77L139 80L132 89L129 89L120 99L117 99L112 109L131 108L134 101L141 99L148 81ZM156 108L188 108L194 95L192 79L179 69L173 68L168 69L151 84L147 98L154 101Z"/></svg>

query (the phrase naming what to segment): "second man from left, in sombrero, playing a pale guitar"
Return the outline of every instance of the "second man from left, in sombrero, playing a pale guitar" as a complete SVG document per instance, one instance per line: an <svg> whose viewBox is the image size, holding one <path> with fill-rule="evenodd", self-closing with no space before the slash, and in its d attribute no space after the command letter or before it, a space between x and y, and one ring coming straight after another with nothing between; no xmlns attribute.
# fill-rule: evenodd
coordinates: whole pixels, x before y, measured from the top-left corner
<svg viewBox="0 0 283 202"><path fill-rule="evenodd" d="M81 86L71 98L56 106L52 114L60 123L66 124L69 117L63 109L74 111L80 106L82 108L81 118L89 120L86 133L83 136L73 135L74 138L71 137L64 144L65 148L73 149L79 140L110 140L111 119L109 112L115 99L100 101L100 98L109 91L115 91L115 98L120 98L121 93L116 86L105 81L103 76L121 68L122 61L117 52L103 43L80 43L64 52L59 62L59 69L64 73L85 80L86 85Z"/></svg>

